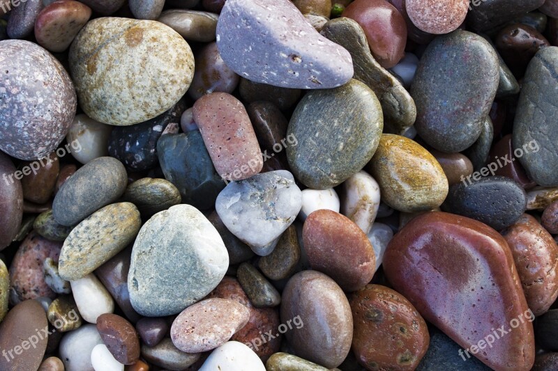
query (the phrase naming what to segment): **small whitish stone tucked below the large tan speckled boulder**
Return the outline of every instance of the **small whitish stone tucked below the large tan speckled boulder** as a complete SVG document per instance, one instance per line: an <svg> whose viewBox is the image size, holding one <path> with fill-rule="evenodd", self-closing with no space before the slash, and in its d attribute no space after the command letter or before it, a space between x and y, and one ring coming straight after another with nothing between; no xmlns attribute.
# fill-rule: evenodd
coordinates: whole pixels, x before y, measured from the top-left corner
<svg viewBox="0 0 558 371"><path fill-rule="evenodd" d="M65 2L71 1L73 0L66 0ZM56 3L59 2L56 1ZM75 116L68 134L66 134L68 143L78 143L80 145L80 150L71 152L72 156L82 164L87 164L98 157L108 156L107 145L112 129L114 129L113 126L99 123L87 117L84 113Z"/></svg>

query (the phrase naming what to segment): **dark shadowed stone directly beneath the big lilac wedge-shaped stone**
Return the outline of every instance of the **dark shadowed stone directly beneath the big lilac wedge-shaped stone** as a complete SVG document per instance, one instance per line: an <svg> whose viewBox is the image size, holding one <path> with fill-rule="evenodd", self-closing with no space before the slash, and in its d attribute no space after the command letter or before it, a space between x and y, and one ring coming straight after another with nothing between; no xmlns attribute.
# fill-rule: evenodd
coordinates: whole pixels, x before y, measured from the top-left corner
<svg viewBox="0 0 558 371"><path fill-rule="evenodd" d="M243 102L252 103L259 100L271 102L279 107L281 111L291 109L301 97L300 89L281 88L268 84L260 84L241 77L239 93Z"/></svg>

